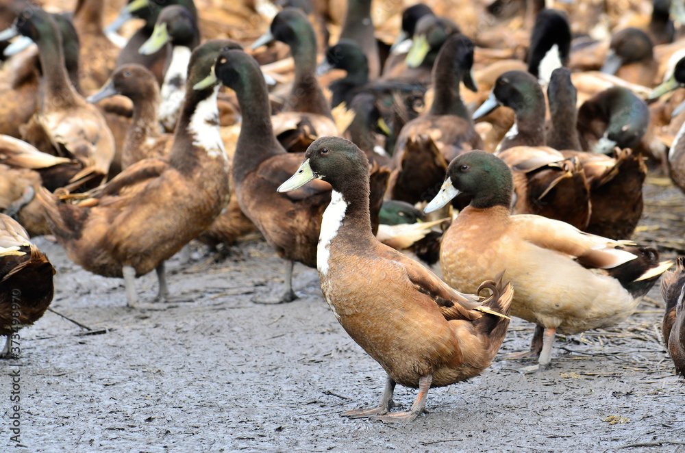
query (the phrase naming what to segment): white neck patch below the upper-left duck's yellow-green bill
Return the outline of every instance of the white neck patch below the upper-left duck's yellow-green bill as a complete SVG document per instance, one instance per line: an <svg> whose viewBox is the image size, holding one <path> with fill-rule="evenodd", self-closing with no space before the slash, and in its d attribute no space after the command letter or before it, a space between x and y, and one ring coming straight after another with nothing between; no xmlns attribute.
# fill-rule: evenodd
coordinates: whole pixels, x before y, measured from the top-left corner
<svg viewBox="0 0 685 453"><path fill-rule="evenodd" d="M164 75L164 83L160 90L160 106L157 109L160 122L167 130L176 126L181 106L186 97L186 79L188 78L188 63L190 54L188 47L175 46L171 53L171 64ZM174 83L171 83L174 81ZM180 85L179 85L180 83Z"/></svg>

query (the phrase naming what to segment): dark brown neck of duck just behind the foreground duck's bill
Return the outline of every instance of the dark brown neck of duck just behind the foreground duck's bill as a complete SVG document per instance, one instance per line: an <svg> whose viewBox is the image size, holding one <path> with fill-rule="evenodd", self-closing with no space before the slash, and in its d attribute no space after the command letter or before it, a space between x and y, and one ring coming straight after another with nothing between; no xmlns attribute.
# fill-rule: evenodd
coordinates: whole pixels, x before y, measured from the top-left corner
<svg viewBox="0 0 685 453"><path fill-rule="evenodd" d="M233 181L239 185L249 172L269 157L286 151L276 140L271 125L269 92L261 74L247 74L232 86L238 97L242 125L233 157Z"/></svg>

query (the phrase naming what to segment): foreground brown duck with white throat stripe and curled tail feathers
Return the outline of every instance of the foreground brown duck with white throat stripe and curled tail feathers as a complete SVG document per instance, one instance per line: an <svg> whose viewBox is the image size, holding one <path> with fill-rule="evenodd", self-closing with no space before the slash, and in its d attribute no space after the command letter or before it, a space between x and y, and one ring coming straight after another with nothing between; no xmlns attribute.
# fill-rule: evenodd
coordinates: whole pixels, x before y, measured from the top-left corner
<svg viewBox="0 0 685 453"><path fill-rule="evenodd" d="M278 191L319 179L332 186L316 252L321 289L347 334L388 375L379 406L344 415L411 421L425 411L429 389L473 378L490 365L506 335L513 291L500 276L475 283L475 294L461 294L378 242L368 169L366 155L352 142L319 138ZM492 294L479 298L485 288ZM397 384L419 389L409 411L391 412Z"/></svg>

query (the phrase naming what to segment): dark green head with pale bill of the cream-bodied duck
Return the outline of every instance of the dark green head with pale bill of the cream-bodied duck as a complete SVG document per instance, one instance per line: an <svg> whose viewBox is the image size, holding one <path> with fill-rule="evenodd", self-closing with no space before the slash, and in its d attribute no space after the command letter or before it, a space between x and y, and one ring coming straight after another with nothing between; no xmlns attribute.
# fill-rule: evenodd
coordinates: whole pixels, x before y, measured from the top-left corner
<svg viewBox="0 0 685 453"><path fill-rule="evenodd" d="M471 196L472 207L501 205L509 209L513 192L514 177L502 159L484 151L469 151L449 163L445 183L423 211L436 211L462 193Z"/></svg>

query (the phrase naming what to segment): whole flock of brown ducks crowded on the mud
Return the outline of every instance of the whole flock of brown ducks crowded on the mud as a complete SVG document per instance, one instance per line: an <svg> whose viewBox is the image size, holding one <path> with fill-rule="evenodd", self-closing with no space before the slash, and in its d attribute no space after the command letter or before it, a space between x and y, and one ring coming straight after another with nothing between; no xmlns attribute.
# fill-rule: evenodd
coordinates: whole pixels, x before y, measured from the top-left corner
<svg viewBox="0 0 685 453"><path fill-rule="evenodd" d="M325 1L257 1L271 25L249 50L207 40L192 0L129 0L108 27L99 1L74 14L3 3L4 357L53 297L31 236L123 278L135 307L136 276L155 270L164 300L164 261L191 240L230 246L256 229L286 261L272 302L297 297L294 261L316 267L386 371L379 406L350 417L416 418L431 387L490 365L510 315L536 324L516 357L544 370L557 332L625 320L660 278L685 377L685 257L667 272L629 240L646 159L685 191L680 0L620 20L597 10L610 1L457 2L487 25L471 37L417 3L394 42L377 39L371 0L347 1L339 33ZM397 383L419 389L410 411L391 412Z"/></svg>

